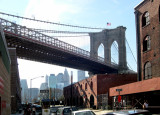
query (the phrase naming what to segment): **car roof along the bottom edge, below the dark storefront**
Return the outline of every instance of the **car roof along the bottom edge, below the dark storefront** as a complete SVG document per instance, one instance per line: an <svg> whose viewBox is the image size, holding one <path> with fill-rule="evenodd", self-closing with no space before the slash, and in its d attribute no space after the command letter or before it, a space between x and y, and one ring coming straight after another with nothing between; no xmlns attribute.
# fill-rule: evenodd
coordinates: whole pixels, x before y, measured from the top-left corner
<svg viewBox="0 0 160 115"><path fill-rule="evenodd" d="M152 113L150 113L148 110L134 109L134 110L120 110L120 111L106 113L103 115L152 115Z"/></svg>

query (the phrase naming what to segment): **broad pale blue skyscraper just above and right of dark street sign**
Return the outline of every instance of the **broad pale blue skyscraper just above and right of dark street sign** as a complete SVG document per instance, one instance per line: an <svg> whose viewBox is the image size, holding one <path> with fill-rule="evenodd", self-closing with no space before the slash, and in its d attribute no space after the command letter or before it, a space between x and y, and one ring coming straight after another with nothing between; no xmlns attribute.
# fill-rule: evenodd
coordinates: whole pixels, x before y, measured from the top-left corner
<svg viewBox="0 0 160 115"><path fill-rule="evenodd" d="M56 88L57 78L55 74L50 74L49 76L49 88Z"/></svg>

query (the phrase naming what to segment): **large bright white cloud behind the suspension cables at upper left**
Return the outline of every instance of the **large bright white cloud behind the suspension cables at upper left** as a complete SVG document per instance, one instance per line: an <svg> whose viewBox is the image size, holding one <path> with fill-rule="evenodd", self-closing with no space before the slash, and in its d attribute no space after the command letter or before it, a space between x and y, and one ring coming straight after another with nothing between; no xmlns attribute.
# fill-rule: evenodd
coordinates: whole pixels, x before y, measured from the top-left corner
<svg viewBox="0 0 160 115"><path fill-rule="evenodd" d="M83 12L83 8L92 1L93 0L66 0L65 2L62 2L62 0L30 0L26 8L24 17L61 23L65 22L65 19L67 19L70 22L72 20L72 22L77 23L77 21L74 21L71 15L78 15L80 12ZM26 20L23 20L21 24L29 28L43 28L47 30L51 29L65 31L70 29L69 27L37 23ZM71 29L72 30L70 31L76 31L75 28ZM67 37L58 39L82 49L90 45L89 37Z"/></svg>

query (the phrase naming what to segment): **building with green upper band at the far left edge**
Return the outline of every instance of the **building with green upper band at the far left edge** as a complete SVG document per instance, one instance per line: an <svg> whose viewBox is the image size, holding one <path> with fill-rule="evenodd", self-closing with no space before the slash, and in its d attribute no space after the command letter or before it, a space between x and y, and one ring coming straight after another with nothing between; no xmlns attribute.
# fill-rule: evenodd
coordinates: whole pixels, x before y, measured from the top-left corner
<svg viewBox="0 0 160 115"><path fill-rule="evenodd" d="M0 115L10 115L10 56L0 27Z"/></svg>

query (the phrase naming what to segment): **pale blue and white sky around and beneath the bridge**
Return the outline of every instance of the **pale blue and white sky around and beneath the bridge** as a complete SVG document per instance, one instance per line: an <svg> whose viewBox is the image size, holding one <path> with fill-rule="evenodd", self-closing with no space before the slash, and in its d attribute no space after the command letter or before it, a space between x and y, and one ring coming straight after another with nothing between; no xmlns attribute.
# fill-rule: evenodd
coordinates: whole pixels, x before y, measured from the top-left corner
<svg viewBox="0 0 160 115"><path fill-rule="evenodd" d="M124 26L127 28L126 39L136 58L134 7L140 2L142 2L142 0L0 0L0 12L79 26L101 27L106 29ZM5 18L10 19L8 17ZM10 20L16 20L17 23L27 27L33 27L34 25L35 28L60 29L60 27L54 25L31 24L31 22L17 20L15 18ZM111 23L111 26L107 26L107 22ZM71 31L73 29L76 28L72 28ZM90 51L88 37L75 39L76 38L62 38L60 40ZM127 47L127 49L129 48ZM101 54L103 54L103 52L100 53L100 55ZM136 62L129 50L127 50L127 61L132 69L136 71ZM50 74L57 75L58 73L64 73L65 70L65 67L22 59L18 59L18 67L20 78L27 79L28 86L32 78ZM71 68L67 68L67 70L69 75L71 71L73 71L73 79L76 81L77 71ZM34 79L32 80L32 87L39 88L42 82L44 82L44 78Z"/></svg>

